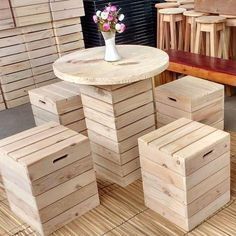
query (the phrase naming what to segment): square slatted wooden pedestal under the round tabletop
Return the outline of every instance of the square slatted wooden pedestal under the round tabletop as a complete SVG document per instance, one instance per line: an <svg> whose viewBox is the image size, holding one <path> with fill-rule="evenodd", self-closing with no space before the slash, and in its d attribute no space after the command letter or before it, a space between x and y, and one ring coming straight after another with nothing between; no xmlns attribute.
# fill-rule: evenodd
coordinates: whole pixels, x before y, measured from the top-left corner
<svg viewBox="0 0 236 236"><path fill-rule="evenodd" d="M141 177L138 137L155 129L151 80L111 86L81 86L98 176L120 186Z"/></svg>

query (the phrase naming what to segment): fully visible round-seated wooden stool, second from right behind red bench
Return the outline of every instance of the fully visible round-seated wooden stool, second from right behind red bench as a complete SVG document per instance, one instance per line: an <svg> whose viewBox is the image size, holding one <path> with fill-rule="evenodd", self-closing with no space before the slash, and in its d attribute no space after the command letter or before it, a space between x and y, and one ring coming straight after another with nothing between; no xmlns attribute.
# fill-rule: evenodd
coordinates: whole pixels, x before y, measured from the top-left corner
<svg viewBox="0 0 236 236"><path fill-rule="evenodd" d="M211 57L222 57L228 59L225 22L226 18L221 16L202 16L196 19L197 33L195 42L195 53L200 53L201 36L206 34L206 55Z"/></svg>

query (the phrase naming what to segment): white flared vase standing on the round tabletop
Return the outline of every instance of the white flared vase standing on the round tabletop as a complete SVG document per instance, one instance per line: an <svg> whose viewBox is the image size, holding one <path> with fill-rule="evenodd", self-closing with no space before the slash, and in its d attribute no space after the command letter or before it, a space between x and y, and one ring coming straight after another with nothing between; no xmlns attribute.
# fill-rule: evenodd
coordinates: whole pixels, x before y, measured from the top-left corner
<svg viewBox="0 0 236 236"><path fill-rule="evenodd" d="M121 59L116 48L116 32L102 32L105 40L105 61L114 62Z"/></svg>

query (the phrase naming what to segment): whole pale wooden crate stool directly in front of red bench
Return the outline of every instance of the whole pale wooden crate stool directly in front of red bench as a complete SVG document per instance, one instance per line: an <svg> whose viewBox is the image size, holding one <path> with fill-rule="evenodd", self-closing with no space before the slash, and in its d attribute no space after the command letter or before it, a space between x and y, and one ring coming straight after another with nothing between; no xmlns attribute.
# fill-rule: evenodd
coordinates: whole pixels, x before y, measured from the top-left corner
<svg viewBox="0 0 236 236"><path fill-rule="evenodd" d="M185 117L224 129L224 86L192 76L155 88L158 127Z"/></svg>

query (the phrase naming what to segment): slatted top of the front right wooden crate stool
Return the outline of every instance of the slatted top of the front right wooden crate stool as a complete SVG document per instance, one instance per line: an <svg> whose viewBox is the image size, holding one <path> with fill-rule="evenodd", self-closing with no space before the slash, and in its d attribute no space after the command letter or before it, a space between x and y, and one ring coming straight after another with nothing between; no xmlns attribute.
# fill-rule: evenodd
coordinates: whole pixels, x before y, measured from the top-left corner
<svg viewBox="0 0 236 236"><path fill-rule="evenodd" d="M230 135L227 132L186 118L176 120L139 138L139 142L148 148L161 151L173 160L177 158L184 162L197 153L204 153L209 147L211 152L204 153L203 156L213 154L217 144L223 141L230 145Z"/></svg>

